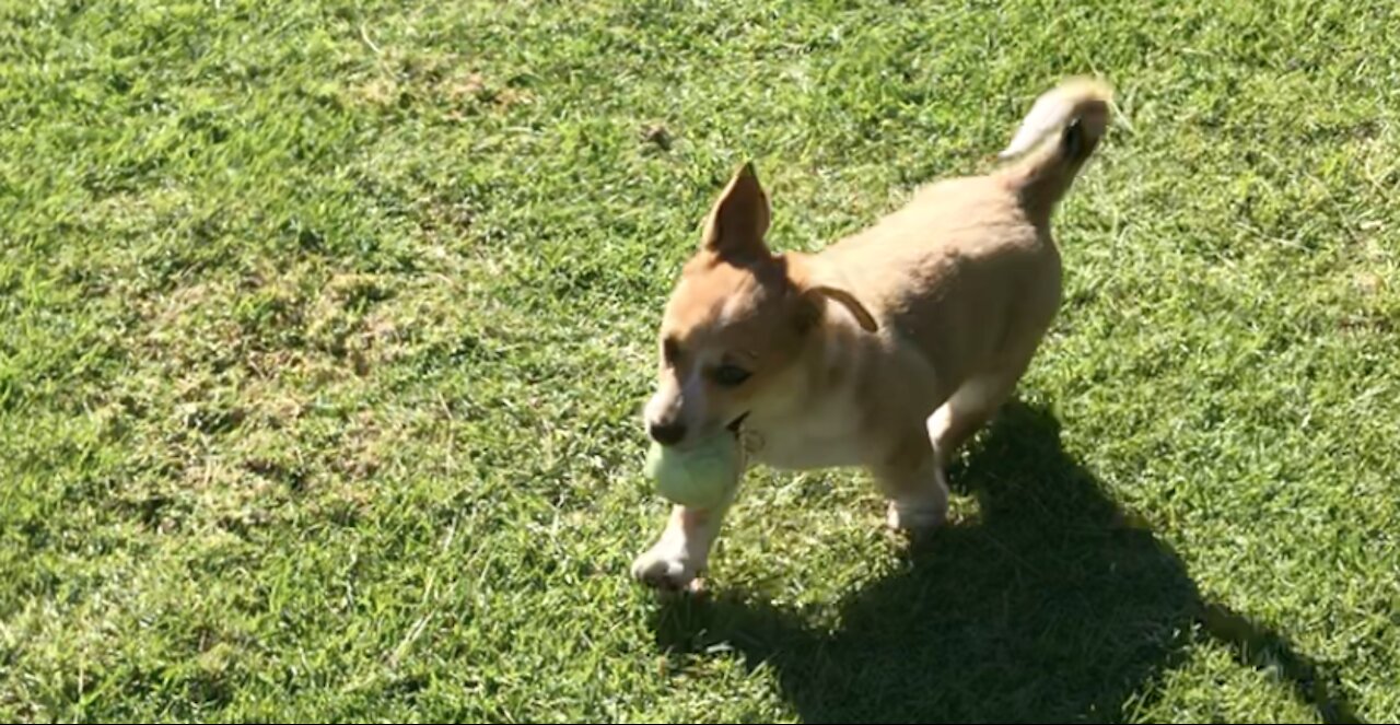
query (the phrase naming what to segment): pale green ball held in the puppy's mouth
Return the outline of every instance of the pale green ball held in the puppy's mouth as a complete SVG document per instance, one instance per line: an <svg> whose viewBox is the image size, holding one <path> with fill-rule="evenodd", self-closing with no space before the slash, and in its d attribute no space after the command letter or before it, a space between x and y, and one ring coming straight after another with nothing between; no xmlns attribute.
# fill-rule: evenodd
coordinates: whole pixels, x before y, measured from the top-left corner
<svg viewBox="0 0 1400 725"><path fill-rule="evenodd" d="M673 504L711 508L724 502L739 481L739 442L734 435L715 435L687 451L651 444L647 476L657 491Z"/></svg>

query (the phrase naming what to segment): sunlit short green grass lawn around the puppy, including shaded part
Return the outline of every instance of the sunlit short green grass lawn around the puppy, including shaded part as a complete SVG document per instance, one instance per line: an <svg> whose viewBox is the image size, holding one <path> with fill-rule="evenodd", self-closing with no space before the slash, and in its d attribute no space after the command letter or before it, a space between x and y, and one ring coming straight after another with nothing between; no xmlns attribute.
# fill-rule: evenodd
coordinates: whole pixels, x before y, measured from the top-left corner
<svg viewBox="0 0 1400 725"><path fill-rule="evenodd" d="M1086 71L958 522L760 473L633 586L735 164L815 249ZM1386 0L0 0L0 717L1394 721L1397 109Z"/></svg>

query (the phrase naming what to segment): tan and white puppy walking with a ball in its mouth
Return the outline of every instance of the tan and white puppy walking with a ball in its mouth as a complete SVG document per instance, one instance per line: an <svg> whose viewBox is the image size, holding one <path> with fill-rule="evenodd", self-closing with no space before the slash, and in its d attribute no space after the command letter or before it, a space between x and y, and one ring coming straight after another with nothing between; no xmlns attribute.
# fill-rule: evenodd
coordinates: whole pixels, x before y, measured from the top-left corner
<svg viewBox="0 0 1400 725"><path fill-rule="evenodd" d="M1002 153L1021 161L932 183L818 255L769 251L769 202L745 164L666 305L651 437L742 435L776 469L862 466L892 526L941 523L949 456L1015 388L1060 307L1050 218L1107 129L1109 98L1096 81L1060 85ZM690 585L731 502L675 507L633 575Z"/></svg>

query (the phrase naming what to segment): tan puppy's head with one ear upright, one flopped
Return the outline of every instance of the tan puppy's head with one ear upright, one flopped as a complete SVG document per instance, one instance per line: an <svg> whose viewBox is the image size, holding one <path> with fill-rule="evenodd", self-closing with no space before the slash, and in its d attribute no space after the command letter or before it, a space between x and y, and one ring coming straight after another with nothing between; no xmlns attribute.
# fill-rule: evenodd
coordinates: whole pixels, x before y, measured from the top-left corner
<svg viewBox="0 0 1400 725"><path fill-rule="evenodd" d="M745 164L720 193L666 304L658 386L644 413L662 445L736 432L755 407L784 390L827 301L875 329L854 297L815 283L806 260L769 249L769 218L767 196Z"/></svg>

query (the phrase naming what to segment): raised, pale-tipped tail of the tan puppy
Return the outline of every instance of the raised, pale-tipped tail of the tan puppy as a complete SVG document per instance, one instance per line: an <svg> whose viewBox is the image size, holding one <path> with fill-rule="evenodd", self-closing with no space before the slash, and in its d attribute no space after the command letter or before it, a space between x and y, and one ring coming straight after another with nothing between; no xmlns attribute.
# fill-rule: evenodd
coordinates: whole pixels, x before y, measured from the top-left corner
<svg viewBox="0 0 1400 725"><path fill-rule="evenodd" d="M1071 78L1036 99L1001 153L1023 157L1004 174L1028 207L1049 213L1060 202L1107 132L1112 99L1113 90L1093 78Z"/></svg>

